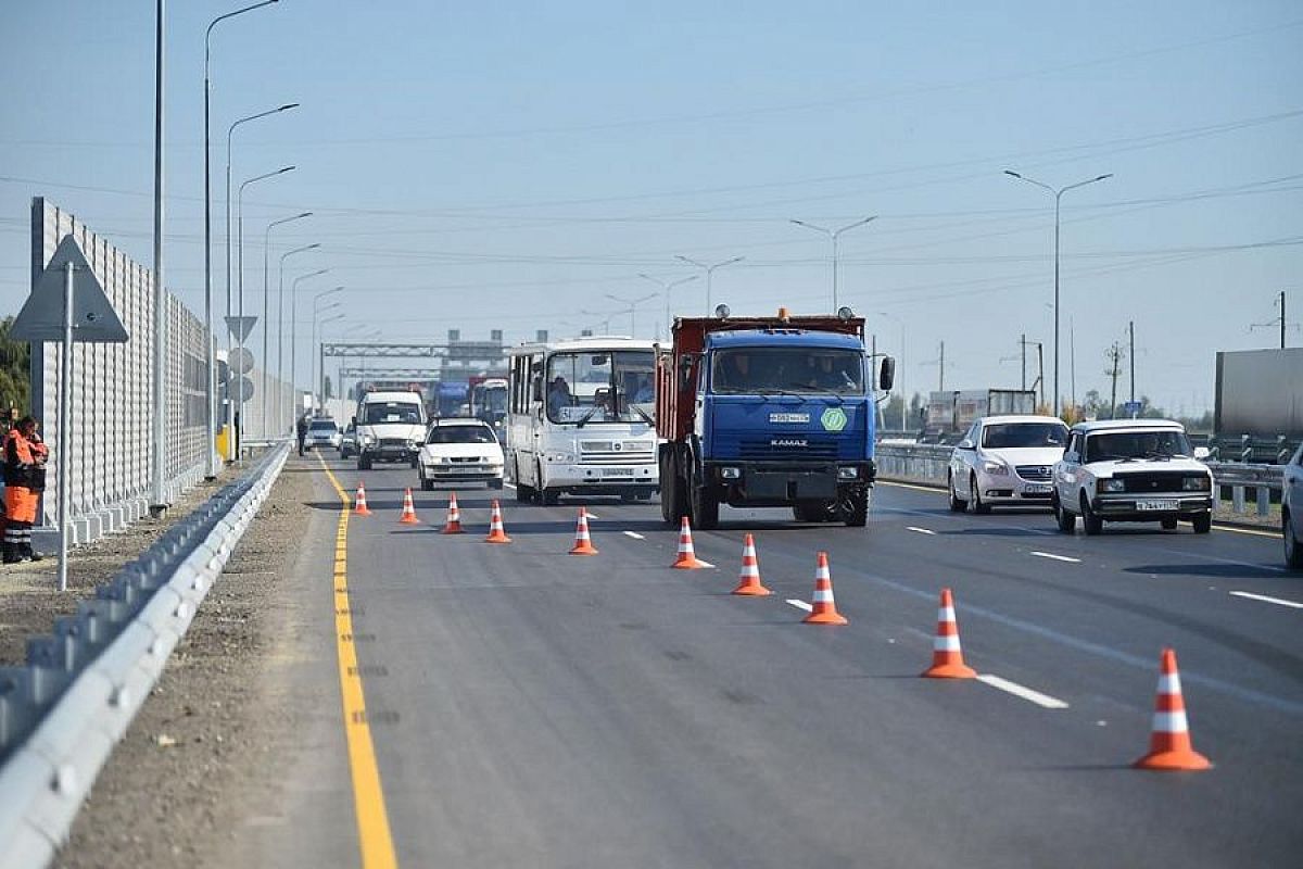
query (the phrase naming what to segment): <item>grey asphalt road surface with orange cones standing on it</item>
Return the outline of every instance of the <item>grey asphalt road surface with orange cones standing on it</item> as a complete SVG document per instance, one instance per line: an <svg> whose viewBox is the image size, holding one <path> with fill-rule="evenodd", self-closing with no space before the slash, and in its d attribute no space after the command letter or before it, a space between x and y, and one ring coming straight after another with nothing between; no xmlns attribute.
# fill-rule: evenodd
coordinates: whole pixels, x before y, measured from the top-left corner
<svg viewBox="0 0 1303 869"><path fill-rule="evenodd" d="M468 533L443 535L447 492L417 487L400 525L416 472L380 466L344 537L318 477L287 542L321 597L294 675L317 702L280 822L237 834L245 865L1303 860L1303 577L1277 537L1067 537L885 485L866 532L726 508L694 541L718 568L674 571L655 504L593 499L601 554L572 558L580 502L460 491ZM482 539L494 495L508 546ZM745 532L771 597L730 594ZM820 550L846 627L800 623ZM990 681L919 677L943 586ZM1210 771L1130 767L1164 646Z"/></svg>

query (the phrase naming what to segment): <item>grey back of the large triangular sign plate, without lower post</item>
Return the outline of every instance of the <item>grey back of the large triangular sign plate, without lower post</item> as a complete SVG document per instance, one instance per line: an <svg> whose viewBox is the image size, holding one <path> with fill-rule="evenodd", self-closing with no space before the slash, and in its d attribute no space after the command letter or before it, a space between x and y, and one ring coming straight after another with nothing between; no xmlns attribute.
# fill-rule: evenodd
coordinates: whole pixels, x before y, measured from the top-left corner
<svg viewBox="0 0 1303 869"><path fill-rule="evenodd" d="M64 236L46 271L40 272L31 296L18 311L10 337L21 341L64 340L64 283L73 268L73 340L121 343L128 340L122 321L104 294L90 263L72 236Z"/></svg>

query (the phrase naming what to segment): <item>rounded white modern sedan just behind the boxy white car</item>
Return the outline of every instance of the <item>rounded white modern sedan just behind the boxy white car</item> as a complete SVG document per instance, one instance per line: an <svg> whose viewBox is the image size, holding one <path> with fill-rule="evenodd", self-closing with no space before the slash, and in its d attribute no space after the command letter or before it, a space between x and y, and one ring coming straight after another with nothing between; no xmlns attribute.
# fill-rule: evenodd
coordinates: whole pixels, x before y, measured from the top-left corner
<svg viewBox="0 0 1303 869"><path fill-rule="evenodd" d="M1063 457L1067 426L1055 417L994 416L973 421L950 453L950 509L1048 507L1050 474Z"/></svg>

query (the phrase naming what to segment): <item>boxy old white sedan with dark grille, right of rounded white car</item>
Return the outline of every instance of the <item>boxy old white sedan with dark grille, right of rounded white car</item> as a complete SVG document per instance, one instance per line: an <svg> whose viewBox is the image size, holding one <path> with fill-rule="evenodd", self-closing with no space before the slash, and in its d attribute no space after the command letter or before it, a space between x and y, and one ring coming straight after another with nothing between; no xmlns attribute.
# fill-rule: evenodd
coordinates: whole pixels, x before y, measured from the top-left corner
<svg viewBox="0 0 1303 869"><path fill-rule="evenodd" d="M1104 522L1160 522L1165 530L1190 521L1207 534L1213 521L1213 474L1191 448L1186 430L1169 420L1081 422L1068 433L1054 465L1050 508L1065 534L1076 517L1089 535Z"/></svg>

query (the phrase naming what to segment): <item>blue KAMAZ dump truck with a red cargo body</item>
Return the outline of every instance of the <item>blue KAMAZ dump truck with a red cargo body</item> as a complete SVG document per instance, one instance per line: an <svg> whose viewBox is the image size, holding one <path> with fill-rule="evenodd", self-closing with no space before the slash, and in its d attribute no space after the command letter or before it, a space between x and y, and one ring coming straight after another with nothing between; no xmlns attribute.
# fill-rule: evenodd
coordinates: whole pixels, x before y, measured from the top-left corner
<svg viewBox="0 0 1303 869"><path fill-rule="evenodd" d="M715 528L719 506L791 507L797 521L863 526L873 486L874 399L864 319L675 321L657 348L661 512ZM895 363L882 362L890 390Z"/></svg>

